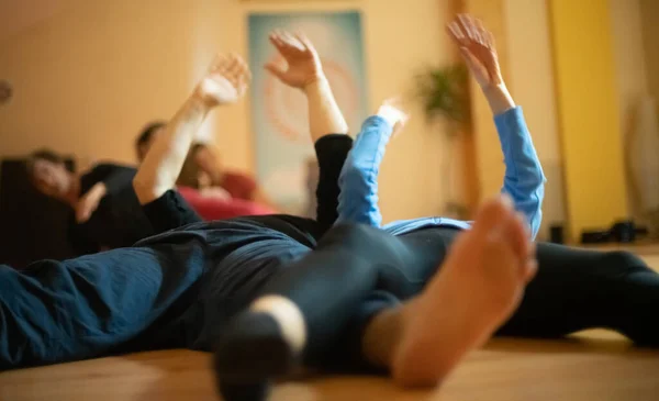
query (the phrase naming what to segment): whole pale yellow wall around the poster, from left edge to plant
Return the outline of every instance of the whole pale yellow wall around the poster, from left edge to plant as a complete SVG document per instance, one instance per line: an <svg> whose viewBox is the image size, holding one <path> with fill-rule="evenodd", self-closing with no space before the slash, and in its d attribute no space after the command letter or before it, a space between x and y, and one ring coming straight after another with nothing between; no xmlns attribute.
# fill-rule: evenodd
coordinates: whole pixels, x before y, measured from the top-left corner
<svg viewBox="0 0 659 401"><path fill-rule="evenodd" d="M448 59L447 15L437 0L71 2L48 22L0 43L0 77L15 90L0 108L0 156L49 146L132 160L136 132L153 118L171 115L214 52L247 53L249 10L361 10L373 110L389 96L409 93L422 67ZM215 136L227 165L252 170L247 104L215 114L205 133ZM386 220L442 210L443 133L428 132L422 111L412 112L382 167Z"/></svg>

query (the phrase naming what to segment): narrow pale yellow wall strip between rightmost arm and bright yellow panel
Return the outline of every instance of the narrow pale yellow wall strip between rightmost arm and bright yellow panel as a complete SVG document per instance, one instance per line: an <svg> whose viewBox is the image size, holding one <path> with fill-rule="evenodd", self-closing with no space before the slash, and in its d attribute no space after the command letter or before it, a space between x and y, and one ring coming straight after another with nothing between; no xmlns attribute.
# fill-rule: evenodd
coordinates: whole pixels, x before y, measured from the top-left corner
<svg viewBox="0 0 659 401"><path fill-rule="evenodd" d="M624 0L622 0L624 1ZM547 185L539 237L566 222L565 181L558 135L554 59L546 0L506 0L509 89L524 109Z"/></svg>

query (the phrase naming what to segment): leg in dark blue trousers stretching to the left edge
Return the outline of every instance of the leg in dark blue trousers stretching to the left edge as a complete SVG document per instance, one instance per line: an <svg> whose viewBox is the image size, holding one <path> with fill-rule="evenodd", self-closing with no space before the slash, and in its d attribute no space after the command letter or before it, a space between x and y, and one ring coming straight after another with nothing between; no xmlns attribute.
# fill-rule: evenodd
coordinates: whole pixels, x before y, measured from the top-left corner
<svg viewBox="0 0 659 401"><path fill-rule="evenodd" d="M201 249L120 248L24 271L0 266L0 369L97 357L135 341L198 280Z"/></svg>

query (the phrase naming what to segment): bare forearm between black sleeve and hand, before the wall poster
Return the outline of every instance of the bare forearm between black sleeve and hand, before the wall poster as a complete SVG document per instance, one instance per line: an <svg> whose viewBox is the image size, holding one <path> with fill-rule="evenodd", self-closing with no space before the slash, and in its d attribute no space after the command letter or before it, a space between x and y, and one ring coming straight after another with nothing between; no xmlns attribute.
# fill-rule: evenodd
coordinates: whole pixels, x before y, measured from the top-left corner
<svg viewBox="0 0 659 401"><path fill-rule="evenodd" d="M326 78L304 88L309 102L309 129L313 143L327 134L347 134L348 124L340 112Z"/></svg>

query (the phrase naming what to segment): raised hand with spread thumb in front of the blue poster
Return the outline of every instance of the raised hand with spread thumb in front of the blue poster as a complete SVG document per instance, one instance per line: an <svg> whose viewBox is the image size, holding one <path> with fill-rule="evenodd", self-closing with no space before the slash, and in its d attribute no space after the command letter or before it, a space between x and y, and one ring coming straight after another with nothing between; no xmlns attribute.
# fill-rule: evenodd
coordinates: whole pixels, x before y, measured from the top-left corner
<svg viewBox="0 0 659 401"><path fill-rule="evenodd" d="M269 38L288 67L284 69L276 62L271 62L265 68L283 83L303 89L324 76L321 58L311 41L304 35L276 31L270 34Z"/></svg>

